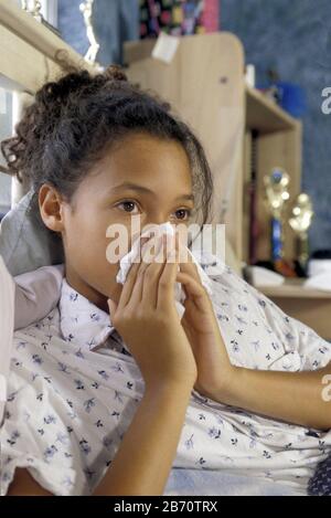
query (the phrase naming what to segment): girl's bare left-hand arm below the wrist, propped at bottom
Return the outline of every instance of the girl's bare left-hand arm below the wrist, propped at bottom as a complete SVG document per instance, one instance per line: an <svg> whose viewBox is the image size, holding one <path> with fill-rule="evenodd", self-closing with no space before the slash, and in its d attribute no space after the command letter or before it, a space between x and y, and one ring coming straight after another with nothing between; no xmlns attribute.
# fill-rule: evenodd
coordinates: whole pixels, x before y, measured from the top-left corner
<svg viewBox="0 0 331 518"><path fill-rule="evenodd" d="M193 384L193 383L192 383ZM120 447L93 496L162 495L177 454L192 385L147 389ZM18 469L9 496L52 496Z"/></svg>

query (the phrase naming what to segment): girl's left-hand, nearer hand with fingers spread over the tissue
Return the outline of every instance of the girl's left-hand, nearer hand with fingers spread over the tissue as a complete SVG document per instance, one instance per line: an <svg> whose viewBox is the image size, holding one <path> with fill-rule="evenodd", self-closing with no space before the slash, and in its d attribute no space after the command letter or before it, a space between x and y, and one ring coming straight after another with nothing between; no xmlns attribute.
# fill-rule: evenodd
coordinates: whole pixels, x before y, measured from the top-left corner
<svg viewBox="0 0 331 518"><path fill-rule="evenodd" d="M137 361L147 388L175 383L193 388L197 377L194 356L174 304L178 244L166 257L159 237L160 261L134 263L118 304L108 299L111 321Z"/></svg>

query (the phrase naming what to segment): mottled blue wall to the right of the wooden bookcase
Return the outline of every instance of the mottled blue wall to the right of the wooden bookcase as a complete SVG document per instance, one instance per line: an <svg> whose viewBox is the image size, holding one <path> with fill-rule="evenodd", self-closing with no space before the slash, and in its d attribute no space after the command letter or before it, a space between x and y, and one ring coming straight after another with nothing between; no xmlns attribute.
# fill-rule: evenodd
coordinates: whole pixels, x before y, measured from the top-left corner
<svg viewBox="0 0 331 518"><path fill-rule="evenodd" d="M246 62L264 82L270 67L305 87L303 178L314 203L311 250L331 249L331 115L321 92L331 86L330 0L221 0L221 28L243 41Z"/></svg>

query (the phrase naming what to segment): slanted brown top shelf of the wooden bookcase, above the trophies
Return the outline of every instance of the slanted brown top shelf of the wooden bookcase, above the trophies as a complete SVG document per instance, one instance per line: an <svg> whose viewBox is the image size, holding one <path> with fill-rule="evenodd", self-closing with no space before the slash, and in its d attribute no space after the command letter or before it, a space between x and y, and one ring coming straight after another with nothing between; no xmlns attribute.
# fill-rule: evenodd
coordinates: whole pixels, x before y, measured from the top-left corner
<svg viewBox="0 0 331 518"><path fill-rule="evenodd" d="M298 121L256 88L246 86L246 128L263 134L295 129Z"/></svg>

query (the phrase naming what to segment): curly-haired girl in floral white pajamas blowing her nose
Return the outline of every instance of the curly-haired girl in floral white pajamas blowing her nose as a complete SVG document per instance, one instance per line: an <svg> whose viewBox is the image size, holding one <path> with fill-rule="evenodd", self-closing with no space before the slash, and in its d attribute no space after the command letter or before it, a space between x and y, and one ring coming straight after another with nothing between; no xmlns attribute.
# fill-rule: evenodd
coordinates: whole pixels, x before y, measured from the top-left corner
<svg viewBox="0 0 331 518"><path fill-rule="evenodd" d="M1 494L160 495L171 466L305 493L331 446L331 348L215 257L109 264L109 224L209 218L204 151L169 106L116 67L44 85L2 144L65 251L58 305L14 334ZM130 234L130 232L129 232ZM178 273L178 266L180 272ZM173 286L182 283L180 320Z"/></svg>

